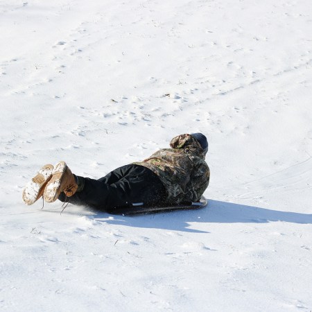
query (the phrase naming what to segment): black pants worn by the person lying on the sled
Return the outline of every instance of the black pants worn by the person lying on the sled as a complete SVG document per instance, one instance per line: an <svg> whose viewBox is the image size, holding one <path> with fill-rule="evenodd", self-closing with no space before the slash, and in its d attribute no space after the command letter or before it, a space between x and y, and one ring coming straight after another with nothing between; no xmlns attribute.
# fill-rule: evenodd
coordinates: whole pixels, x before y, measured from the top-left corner
<svg viewBox="0 0 312 312"><path fill-rule="evenodd" d="M104 211L115 207L129 207L136 202L144 202L145 206L162 206L166 200L164 184L153 171L144 166L122 166L98 180L78 177L81 178L85 182L82 191L69 198L60 193L58 199Z"/></svg>

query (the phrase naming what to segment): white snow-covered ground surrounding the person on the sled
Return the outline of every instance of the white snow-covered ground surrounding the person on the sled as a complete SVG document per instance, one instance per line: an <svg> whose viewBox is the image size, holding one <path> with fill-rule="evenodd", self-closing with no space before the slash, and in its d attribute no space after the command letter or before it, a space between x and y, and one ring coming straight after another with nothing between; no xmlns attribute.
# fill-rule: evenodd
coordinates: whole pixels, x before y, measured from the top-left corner
<svg viewBox="0 0 312 312"><path fill-rule="evenodd" d="M0 0L0 311L312 310L311 0ZM209 139L207 209L21 191Z"/></svg>

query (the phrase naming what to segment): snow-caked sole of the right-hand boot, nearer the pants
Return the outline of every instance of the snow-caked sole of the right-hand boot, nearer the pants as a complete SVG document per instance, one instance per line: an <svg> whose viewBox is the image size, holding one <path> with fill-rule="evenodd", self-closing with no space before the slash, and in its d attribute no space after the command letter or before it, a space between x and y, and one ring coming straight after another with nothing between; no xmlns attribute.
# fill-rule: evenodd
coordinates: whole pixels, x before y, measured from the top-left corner
<svg viewBox="0 0 312 312"><path fill-rule="evenodd" d="M65 162L58 162L55 164L52 171L52 177L44 189L44 200L46 202L55 202L60 195L60 187L62 185L62 177L66 171L67 164Z"/></svg>

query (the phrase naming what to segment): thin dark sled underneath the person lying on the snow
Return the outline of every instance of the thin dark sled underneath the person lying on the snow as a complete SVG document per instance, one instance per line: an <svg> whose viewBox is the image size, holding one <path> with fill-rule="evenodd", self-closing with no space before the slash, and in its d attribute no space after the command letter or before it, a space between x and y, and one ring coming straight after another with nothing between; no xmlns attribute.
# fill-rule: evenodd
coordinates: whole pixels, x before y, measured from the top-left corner
<svg viewBox="0 0 312 312"><path fill-rule="evenodd" d="M156 212L173 211L178 209L200 209L208 205L208 200L202 196L199 202L182 203L166 207L146 207L144 202L137 202L130 207L114 208L107 211L110 214L134 215L134 214L153 214Z"/></svg>

